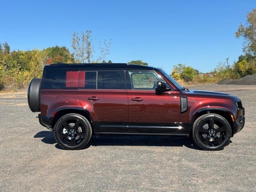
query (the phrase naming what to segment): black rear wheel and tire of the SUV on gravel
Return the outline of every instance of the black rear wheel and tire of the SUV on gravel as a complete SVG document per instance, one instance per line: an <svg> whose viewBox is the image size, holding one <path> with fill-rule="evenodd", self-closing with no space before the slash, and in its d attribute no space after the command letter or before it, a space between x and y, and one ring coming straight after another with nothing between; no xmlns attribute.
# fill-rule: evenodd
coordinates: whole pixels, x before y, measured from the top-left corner
<svg viewBox="0 0 256 192"><path fill-rule="evenodd" d="M92 127L90 122L79 114L64 115L54 126L54 137L58 144L66 150L84 148L90 141L91 136Z"/></svg>

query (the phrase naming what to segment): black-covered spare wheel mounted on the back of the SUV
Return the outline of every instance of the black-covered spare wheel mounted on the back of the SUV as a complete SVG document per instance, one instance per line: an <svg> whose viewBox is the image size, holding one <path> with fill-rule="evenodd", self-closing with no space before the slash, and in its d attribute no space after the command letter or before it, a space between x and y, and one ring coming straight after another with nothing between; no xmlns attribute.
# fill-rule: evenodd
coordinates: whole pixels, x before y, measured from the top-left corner
<svg viewBox="0 0 256 192"><path fill-rule="evenodd" d="M40 112L40 92L42 79L34 78L28 86L28 106L32 112Z"/></svg>

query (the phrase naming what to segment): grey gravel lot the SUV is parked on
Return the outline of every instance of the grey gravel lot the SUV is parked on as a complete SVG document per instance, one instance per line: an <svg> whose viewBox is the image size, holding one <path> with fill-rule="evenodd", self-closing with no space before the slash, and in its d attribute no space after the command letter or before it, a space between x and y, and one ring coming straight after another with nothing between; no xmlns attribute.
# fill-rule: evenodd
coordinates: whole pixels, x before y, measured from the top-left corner
<svg viewBox="0 0 256 192"><path fill-rule="evenodd" d="M62 150L26 94L1 94L0 191L256 191L256 86L189 88L241 98L246 124L224 150L157 136L93 137L86 149Z"/></svg>

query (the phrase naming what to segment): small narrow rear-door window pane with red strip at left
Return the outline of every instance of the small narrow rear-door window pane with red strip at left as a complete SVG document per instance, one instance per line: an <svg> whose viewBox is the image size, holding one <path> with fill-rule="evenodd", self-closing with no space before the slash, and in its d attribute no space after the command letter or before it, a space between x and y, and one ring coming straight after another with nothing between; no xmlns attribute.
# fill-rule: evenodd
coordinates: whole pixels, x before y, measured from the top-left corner
<svg viewBox="0 0 256 192"><path fill-rule="evenodd" d="M78 87L83 89L96 89L96 71L79 71Z"/></svg>

